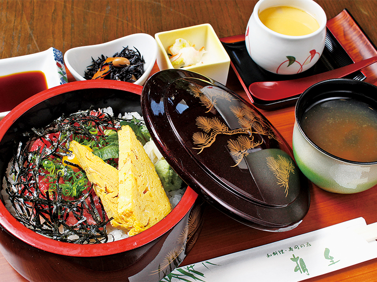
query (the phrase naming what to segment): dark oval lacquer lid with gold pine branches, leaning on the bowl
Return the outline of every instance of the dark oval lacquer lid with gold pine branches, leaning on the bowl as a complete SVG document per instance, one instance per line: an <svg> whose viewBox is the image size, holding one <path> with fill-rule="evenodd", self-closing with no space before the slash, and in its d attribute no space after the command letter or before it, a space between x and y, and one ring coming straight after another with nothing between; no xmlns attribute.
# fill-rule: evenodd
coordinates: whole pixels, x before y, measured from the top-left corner
<svg viewBox="0 0 377 282"><path fill-rule="evenodd" d="M248 226L296 227L308 180L290 146L252 105L200 74L168 69L145 84L144 119L162 155L199 195Z"/></svg>

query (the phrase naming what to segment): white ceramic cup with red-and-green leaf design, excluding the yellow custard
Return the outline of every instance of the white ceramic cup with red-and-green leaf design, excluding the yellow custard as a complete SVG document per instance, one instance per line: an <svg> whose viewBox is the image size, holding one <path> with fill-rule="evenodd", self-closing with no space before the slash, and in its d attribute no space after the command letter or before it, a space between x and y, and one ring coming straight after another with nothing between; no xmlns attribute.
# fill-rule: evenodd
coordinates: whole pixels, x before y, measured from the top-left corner
<svg viewBox="0 0 377 282"><path fill-rule="evenodd" d="M267 28L259 12L272 6L290 6L311 14L319 28L308 35L290 36ZM245 34L252 60L277 74L297 74L311 68L322 54L326 39L326 14L313 0L259 0L251 14Z"/></svg>

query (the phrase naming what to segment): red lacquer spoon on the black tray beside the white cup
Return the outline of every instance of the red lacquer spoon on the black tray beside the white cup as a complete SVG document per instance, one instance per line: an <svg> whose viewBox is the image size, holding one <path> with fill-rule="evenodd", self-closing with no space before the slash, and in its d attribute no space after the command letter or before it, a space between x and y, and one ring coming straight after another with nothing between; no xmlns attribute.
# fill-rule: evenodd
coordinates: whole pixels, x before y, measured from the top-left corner
<svg viewBox="0 0 377 282"><path fill-rule="evenodd" d="M265 101L280 100L302 94L313 84L332 78L342 78L377 62L377 56L324 73L284 81L254 82L249 86L251 95Z"/></svg>

